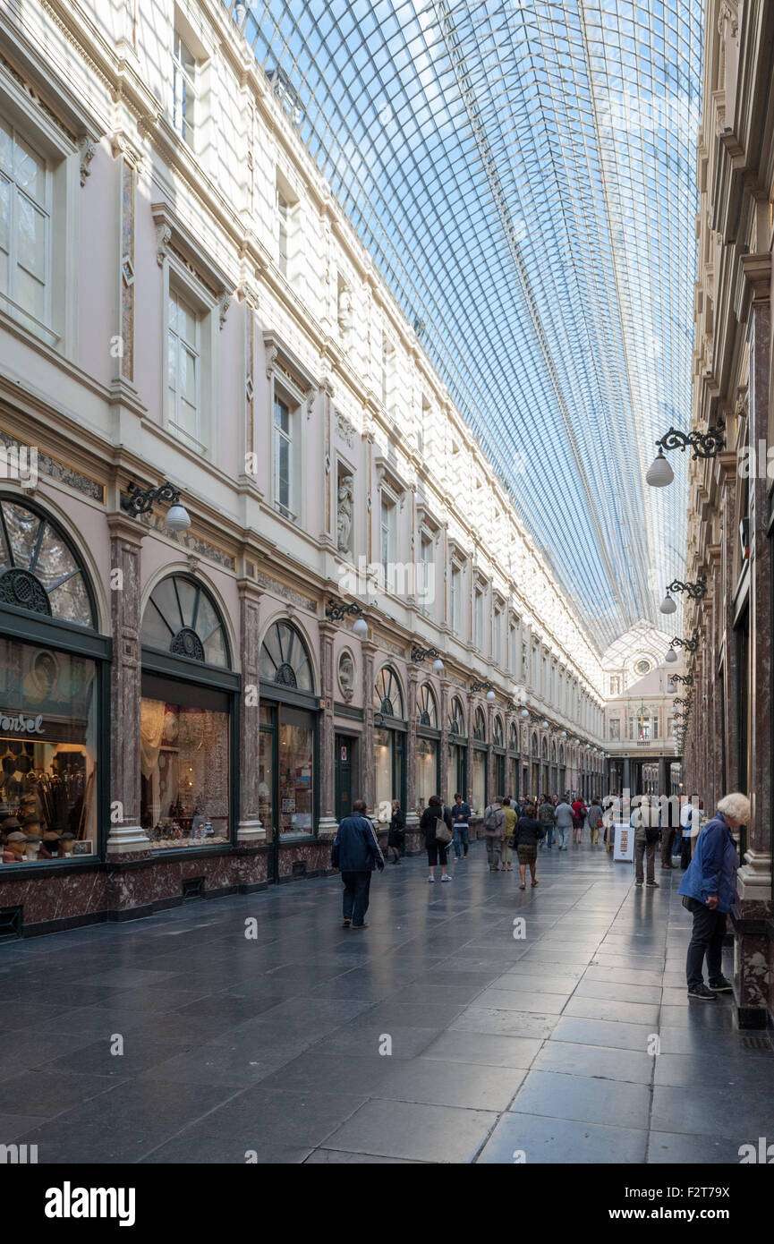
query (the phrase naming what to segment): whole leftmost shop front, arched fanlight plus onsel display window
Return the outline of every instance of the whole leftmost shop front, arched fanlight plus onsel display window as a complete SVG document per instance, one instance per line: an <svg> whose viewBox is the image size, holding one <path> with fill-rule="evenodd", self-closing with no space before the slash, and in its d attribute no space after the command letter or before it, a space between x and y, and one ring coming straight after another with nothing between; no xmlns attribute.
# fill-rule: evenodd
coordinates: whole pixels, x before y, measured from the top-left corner
<svg viewBox="0 0 774 1244"><path fill-rule="evenodd" d="M0 496L5 923L16 899L35 907L27 878L65 875L103 850L110 657L88 575L62 527L31 501Z"/></svg>

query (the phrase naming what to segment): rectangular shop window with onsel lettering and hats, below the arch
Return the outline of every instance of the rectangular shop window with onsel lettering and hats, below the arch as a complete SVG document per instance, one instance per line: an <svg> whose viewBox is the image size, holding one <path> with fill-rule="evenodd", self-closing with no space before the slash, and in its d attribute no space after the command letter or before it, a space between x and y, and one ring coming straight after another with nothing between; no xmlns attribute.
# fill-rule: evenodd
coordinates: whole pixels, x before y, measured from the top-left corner
<svg viewBox="0 0 774 1244"><path fill-rule="evenodd" d="M97 853L96 687L93 661L0 638L4 865Z"/></svg>

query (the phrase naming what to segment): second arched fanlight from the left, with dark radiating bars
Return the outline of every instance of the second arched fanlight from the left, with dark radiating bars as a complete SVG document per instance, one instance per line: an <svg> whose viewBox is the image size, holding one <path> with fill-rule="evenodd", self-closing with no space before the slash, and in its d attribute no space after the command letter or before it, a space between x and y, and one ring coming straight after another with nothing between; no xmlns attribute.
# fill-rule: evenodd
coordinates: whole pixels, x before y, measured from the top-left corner
<svg viewBox="0 0 774 1244"><path fill-rule="evenodd" d="M218 606L202 583L185 575L169 575L153 588L142 618L142 643L221 669L231 664Z"/></svg>

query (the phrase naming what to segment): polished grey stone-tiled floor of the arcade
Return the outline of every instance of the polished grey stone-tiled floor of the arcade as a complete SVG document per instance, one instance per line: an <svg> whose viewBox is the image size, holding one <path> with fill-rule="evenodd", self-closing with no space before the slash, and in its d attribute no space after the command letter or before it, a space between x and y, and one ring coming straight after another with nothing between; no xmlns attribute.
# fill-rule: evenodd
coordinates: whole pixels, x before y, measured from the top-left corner
<svg viewBox="0 0 774 1244"><path fill-rule="evenodd" d="M774 1055L728 995L688 1001L679 871L636 889L589 843L538 868L521 892L483 843L450 884L388 866L362 933L330 877L0 947L0 1143L41 1163L737 1163L772 1132Z"/></svg>

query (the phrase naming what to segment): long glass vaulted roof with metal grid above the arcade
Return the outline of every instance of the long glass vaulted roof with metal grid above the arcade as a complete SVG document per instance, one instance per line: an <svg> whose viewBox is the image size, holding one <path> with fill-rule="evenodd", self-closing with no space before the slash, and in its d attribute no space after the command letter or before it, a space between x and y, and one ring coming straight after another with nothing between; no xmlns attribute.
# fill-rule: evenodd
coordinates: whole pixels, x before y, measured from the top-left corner
<svg viewBox="0 0 774 1244"><path fill-rule="evenodd" d="M702 0L224 2L597 647L660 622Z"/></svg>

